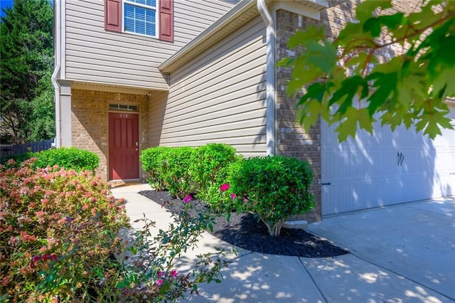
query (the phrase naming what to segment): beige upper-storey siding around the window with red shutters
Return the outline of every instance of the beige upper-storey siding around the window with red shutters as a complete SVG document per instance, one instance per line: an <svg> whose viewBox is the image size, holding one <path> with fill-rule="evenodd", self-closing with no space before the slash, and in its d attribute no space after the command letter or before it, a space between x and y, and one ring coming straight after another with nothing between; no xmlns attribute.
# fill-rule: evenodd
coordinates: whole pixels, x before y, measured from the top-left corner
<svg viewBox="0 0 455 303"><path fill-rule="evenodd" d="M158 66L233 4L174 0L174 42L105 31L103 0L67 0L65 79L150 89L168 88Z"/></svg>

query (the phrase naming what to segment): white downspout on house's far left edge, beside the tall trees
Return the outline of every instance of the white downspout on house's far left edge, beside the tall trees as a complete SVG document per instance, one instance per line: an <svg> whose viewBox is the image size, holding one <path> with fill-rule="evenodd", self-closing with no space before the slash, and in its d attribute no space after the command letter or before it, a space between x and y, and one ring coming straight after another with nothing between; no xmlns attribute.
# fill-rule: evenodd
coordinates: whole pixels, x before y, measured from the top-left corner
<svg viewBox="0 0 455 303"><path fill-rule="evenodd" d="M57 82L57 77L60 75L60 14L61 7L60 1L54 1L54 22L55 22L55 32L54 32L54 55L55 55L55 68L52 73L52 84L54 86L54 102L55 102L55 147L60 147L60 85Z"/></svg>

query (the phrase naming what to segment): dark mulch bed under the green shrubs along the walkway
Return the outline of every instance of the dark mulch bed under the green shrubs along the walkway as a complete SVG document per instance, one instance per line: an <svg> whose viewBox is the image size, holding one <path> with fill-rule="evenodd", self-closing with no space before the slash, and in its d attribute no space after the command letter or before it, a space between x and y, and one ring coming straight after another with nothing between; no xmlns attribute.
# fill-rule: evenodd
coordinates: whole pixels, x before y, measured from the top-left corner
<svg viewBox="0 0 455 303"><path fill-rule="evenodd" d="M171 198L167 191L141 191L139 193L160 203L173 213L180 212L184 207L183 201ZM195 213L196 210L208 209L205 203L198 200L190 203ZM250 213L232 213L229 222L225 215L218 216L212 234L239 248L270 255L336 257L348 253L305 230L283 228L279 237L273 237L269 235L264 223Z"/></svg>

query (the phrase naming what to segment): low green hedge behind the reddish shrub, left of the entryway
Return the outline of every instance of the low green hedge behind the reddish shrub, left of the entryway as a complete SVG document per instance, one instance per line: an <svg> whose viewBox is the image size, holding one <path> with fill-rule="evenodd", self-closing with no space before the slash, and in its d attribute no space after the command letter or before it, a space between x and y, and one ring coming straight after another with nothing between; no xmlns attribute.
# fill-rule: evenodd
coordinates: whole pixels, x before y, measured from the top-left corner
<svg viewBox="0 0 455 303"><path fill-rule="evenodd" d="M18 154L8 158L2 158L1 164L6 164L8 159L13 159L18 167L21 162L35 158L33 162L34 168L45 169L50 166L59 166L67 170L74 169L75 171L92 171L95 172L100 164L100 158L92 151L85 149L76 149L75 147L60 147L58 149L47 149L45 151L29 152Z"/></svg>

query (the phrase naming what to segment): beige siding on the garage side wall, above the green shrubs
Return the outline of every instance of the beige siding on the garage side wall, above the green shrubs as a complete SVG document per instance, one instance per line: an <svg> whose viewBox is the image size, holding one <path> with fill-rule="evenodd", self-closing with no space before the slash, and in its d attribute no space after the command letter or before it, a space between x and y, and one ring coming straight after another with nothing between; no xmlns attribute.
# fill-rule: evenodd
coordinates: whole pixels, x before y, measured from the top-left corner
<svg viewBox="0 0 455 303"><path fill-rule="evenodd" d="M171 74L160 145L266 154L265 25L255 18Z"/></svg>

